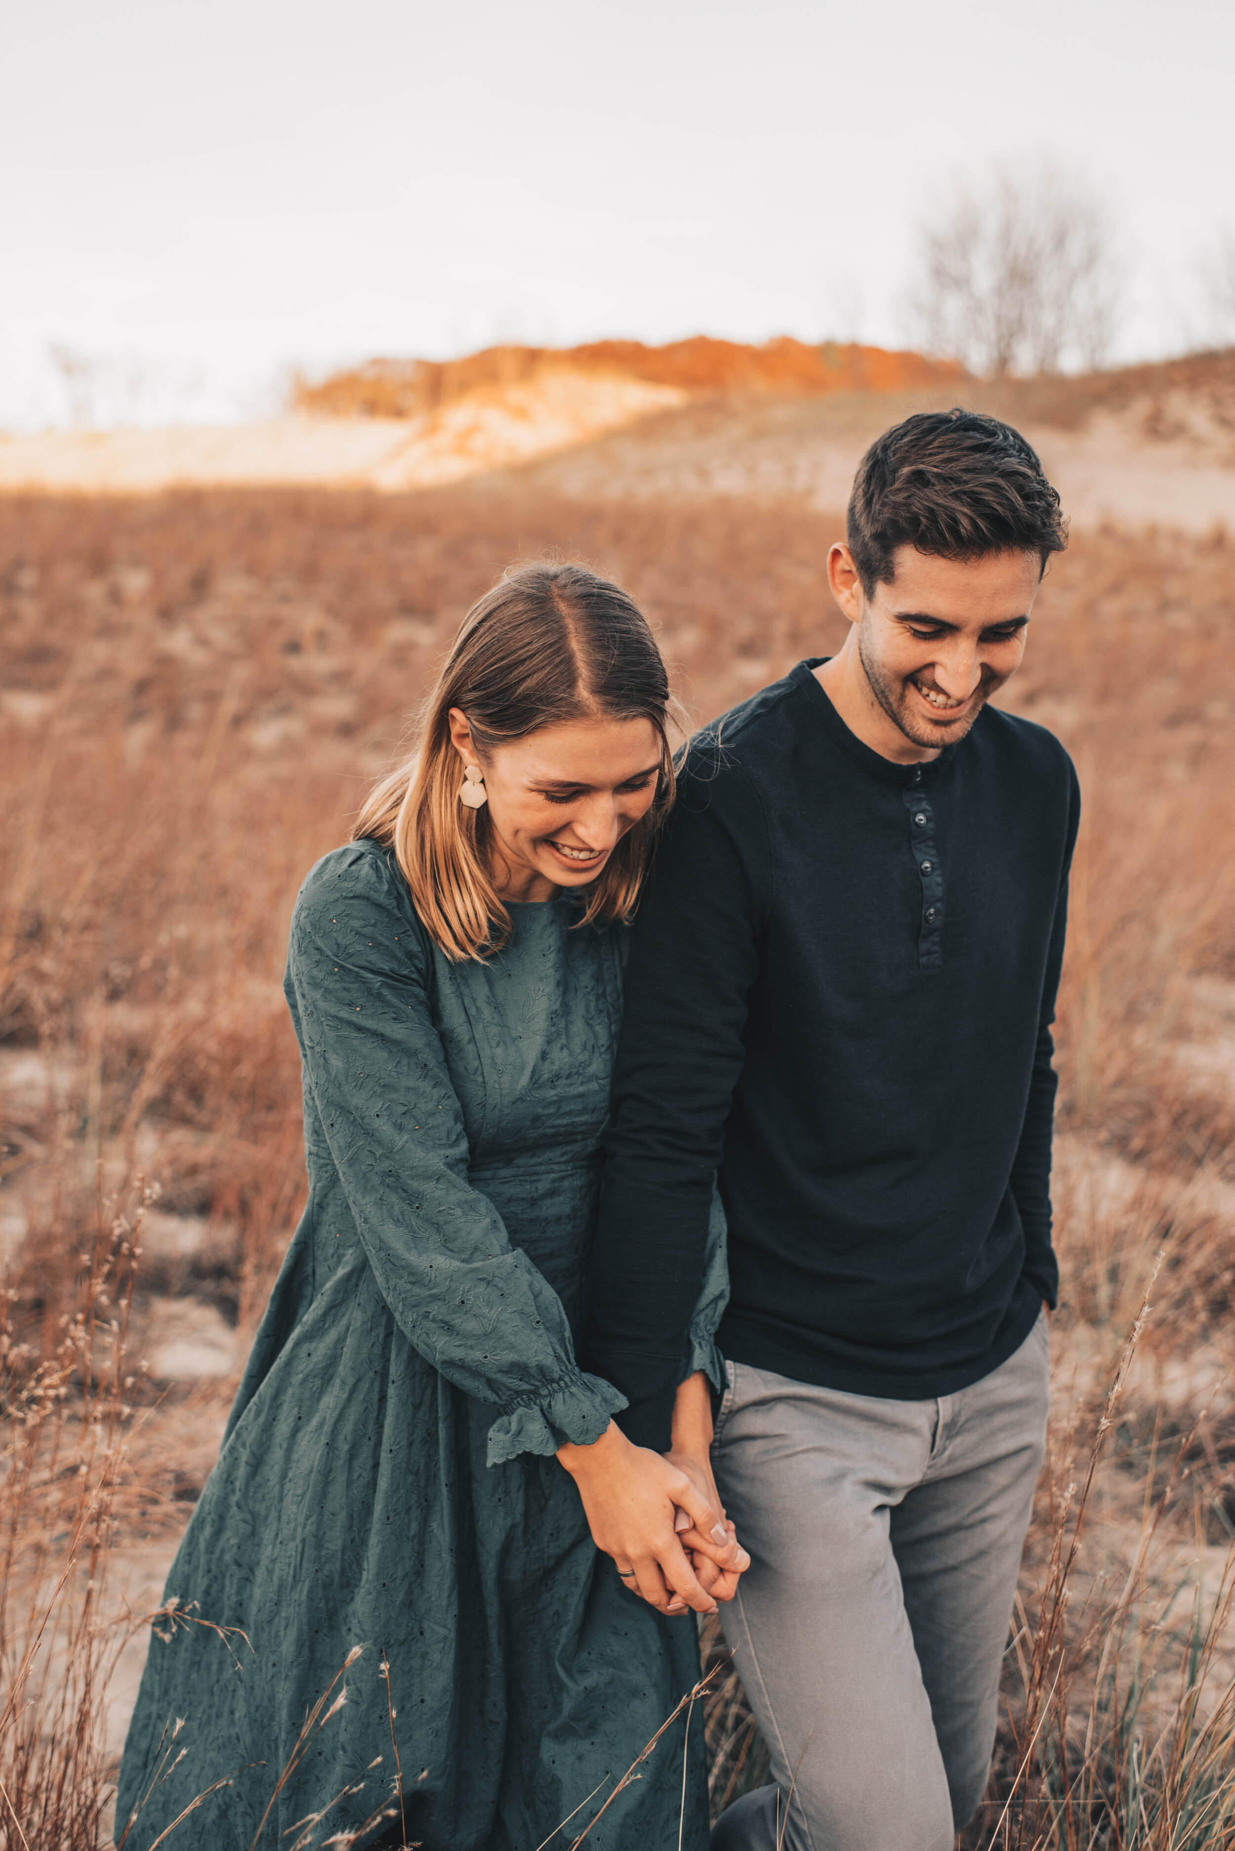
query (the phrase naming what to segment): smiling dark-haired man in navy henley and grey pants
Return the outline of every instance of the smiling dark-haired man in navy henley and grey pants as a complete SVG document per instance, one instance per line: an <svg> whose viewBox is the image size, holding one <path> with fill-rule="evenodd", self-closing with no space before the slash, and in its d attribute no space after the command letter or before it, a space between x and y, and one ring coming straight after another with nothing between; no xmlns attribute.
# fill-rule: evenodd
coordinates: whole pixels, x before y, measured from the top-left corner
<svg viewBox="0 0 1235 1851"><path fill-rule="evenodd" d="M987 702L1059 498L1006 424L930 413L871 446L847 533L841 652L691 742L634 929L592 1286L590 1366L664 1449L719 1172L712 1466L752 1557L725 1636L773 1784L714 1851L948 1851L1046 1423L1080 798L1058 740Z"/></svg>

